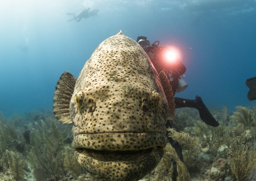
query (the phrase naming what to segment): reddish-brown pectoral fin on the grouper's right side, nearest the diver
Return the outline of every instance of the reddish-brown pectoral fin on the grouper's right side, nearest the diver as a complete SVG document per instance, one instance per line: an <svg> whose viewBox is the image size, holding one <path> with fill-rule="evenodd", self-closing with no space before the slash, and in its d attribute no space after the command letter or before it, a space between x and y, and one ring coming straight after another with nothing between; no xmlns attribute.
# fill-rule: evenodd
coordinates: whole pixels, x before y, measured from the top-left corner
<svg viewBox="0 0 256 181"><path fill-rule="evenodd" d="M174 97L173 97L173 90L172 86L170 85L170 82L164 73L164 71L161 71L159 73L159 78L161 80L162 86L164 88L164 94L168 101L168 119L175 120L174 111L175 111L175 104L174 104Z"/></svg>

